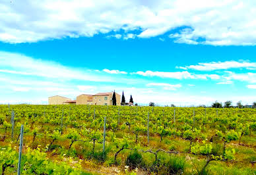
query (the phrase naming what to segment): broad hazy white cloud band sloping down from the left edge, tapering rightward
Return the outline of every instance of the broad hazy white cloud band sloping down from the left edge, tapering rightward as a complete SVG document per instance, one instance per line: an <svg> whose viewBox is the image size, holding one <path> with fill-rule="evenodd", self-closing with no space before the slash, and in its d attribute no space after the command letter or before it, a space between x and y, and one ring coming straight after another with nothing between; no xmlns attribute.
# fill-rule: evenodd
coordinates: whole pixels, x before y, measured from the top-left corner
<svg viewBox="0 0 256 175"><path fill-rule="evenodd" d="M40 76L44 78L60 78L63 80L84 80L93 82L113 82L112 78L96 76L82 70L62 66L50 61L33 59L18 53L0 51L0 72L24 76Z"/></svg>

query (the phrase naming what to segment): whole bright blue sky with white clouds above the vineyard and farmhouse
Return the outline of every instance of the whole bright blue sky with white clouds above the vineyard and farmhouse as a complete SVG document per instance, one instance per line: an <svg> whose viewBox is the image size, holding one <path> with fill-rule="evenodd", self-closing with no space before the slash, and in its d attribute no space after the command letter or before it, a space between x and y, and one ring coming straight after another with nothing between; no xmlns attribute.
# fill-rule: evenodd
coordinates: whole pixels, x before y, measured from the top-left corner
<svg viewBox="0 0 256 175"><path fill-rule="evenodd" d="M0 0L0 104L114 91L256 101L256 1Z"/></svg>

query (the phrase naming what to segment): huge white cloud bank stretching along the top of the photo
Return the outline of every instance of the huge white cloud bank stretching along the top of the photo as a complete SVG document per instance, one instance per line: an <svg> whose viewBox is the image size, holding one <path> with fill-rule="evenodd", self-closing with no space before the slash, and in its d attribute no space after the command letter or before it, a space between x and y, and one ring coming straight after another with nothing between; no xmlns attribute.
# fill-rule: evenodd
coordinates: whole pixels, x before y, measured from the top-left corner
<svg viewBox="0 0 256 175"><path fill-rule="evenodd" d="M128 39L135 30L141 31L138 37L153 37L181 28L170 35L177 43L255 45L255 7L255 1L239 0L1 1L0 41L90 37L121 29Z"/></svg>

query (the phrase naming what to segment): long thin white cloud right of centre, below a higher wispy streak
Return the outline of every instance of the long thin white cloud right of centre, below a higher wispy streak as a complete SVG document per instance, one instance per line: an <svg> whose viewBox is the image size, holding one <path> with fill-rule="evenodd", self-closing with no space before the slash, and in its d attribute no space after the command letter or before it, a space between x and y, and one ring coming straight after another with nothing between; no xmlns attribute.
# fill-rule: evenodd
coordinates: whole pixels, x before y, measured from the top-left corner
<svg viewBox="0 0 256 175"><path fill-rule="evenodd" d="M187 71L183 72L153 72L151 70L146 70L146 72L138 71L133 72L131 74L139 74L141 76L158 76L161 78L174 78L174 79L203 79L207 80L207 78L210 79L219 79L220 76L217 74L191 74Z"/></svg>

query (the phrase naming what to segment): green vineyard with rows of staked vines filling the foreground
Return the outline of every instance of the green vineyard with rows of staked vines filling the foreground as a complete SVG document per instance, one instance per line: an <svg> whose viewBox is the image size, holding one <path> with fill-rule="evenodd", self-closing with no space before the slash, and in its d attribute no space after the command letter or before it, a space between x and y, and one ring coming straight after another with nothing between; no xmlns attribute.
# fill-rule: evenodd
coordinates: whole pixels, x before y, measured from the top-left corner
<svg viewBox="0 0 256 175"><path fill-rule="evenodd" d="M0 105L0 173L19 163L21 174L256 174L256 109Z"/></svg>

